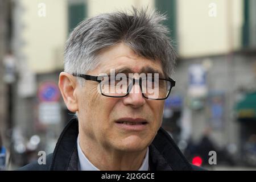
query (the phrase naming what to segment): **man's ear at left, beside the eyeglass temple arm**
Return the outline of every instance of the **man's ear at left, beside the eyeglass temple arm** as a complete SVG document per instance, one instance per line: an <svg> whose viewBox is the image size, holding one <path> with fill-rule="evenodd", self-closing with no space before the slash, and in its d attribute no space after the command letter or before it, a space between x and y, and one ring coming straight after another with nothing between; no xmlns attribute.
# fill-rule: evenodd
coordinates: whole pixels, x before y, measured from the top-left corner
<svg viewBox="0 0 256 182"><path fill-rule="evenodd" d="M75 113L78 111L78 102L76 96L76 89L77 82L76 78L65 72L61 72L59 76L59 88L65 105L67 106L68 110Z"/></svg>

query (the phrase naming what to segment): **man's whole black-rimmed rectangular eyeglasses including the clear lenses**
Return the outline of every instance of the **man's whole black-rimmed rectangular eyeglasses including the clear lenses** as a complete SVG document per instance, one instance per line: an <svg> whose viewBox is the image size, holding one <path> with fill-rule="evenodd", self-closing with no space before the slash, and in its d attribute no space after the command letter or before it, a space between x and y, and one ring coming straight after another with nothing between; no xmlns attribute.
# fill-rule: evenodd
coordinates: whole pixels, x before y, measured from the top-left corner
<svg viewBox="0 0 256 182"><path fill-rule="evenodd" d="M142 96L148 100L165 100L175 81L172 78L145 77L135 79L127 76L92 76L82 74L72 74L85 80L97 81L99 83L98 90L106 97L125 97L137 82L141 88Z"/></svg>

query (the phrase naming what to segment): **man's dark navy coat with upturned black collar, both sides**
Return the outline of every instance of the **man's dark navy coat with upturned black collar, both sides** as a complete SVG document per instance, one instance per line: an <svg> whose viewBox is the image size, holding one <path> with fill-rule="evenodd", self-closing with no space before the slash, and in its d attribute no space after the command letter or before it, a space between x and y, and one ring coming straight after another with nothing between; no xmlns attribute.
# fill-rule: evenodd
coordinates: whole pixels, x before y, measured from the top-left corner
<svg viewBox="0 0 256 182"><path fill-rule="evenodd" d="M79 127L77 119L72 119L65 127L57 141L53 154L47 155L46 164L38 164L38 161L27 164L18 170L77 170L77 136ZM201 168L188 163L184 155L174 143L170 135L162 128L149 146L150 170L200 170Z"/></svg>

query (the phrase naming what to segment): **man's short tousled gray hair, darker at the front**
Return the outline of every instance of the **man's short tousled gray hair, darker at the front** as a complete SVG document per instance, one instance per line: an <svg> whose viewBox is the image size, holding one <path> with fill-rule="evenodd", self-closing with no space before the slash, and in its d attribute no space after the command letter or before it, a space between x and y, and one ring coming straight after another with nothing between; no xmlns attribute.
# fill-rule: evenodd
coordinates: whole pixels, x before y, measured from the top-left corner
<svg viewBox="0 0 256 182"><path fill-rule="evenodd" d="M64 52L64 71L86 73L97 67L101 49L125 43L137 55L150 60L160 60L163 71L171 76L176 53L162 23L166 15L147 8L99 14L83 20L70 34Z"/></svg>

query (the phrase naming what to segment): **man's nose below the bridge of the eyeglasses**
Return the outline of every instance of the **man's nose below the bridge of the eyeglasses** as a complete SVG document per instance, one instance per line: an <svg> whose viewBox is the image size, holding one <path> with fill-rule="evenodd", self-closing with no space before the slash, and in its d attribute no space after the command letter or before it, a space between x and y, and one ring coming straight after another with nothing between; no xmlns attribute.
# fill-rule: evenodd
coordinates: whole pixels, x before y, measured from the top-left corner
<svg viewBox="0 0 256 182"><path fill-rule="evenodd" d="M134 108L143 106L146 99L142 96L141 87L138 82L133 85L129 94L123 98L123 104L130 105Z"/></svg>

